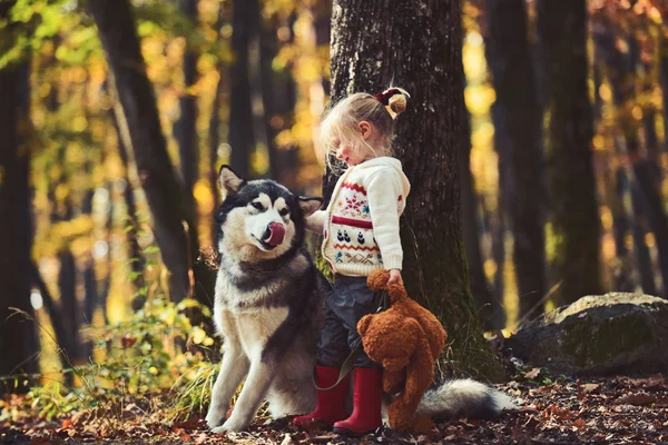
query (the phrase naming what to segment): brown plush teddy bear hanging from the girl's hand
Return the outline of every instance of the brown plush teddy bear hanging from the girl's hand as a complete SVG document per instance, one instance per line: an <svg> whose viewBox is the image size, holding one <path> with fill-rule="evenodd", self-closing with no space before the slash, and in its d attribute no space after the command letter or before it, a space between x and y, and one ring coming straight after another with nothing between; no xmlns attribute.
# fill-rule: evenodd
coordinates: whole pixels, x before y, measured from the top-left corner
<svg viewBox="0 0 668 445"><path fill-rule="evenodd" d="M397 394L390 404L390 426L397 432L429 433L429 416L415 416L418 404L434 378L434 363L445 347L445 329L436 317L413 301L401 284L387 285L390 273L369 275L369 288L386 290L392 306L362 317L357 330L366 354L383 365L383 390Z"/></svg>

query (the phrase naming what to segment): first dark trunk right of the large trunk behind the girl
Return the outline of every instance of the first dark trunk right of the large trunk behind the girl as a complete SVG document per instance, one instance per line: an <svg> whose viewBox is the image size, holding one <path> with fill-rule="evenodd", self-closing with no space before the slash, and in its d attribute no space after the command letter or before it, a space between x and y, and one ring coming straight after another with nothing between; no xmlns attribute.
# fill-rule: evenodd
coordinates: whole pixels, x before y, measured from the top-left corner
<svg viewBox="0 0 668 445"><path fill-rule="evenodd" d="M520 316L543 312L546 250L543 159L536 73L527 37L523 0L488 0L485 52L497 90L493 121L499 157L507 158L507 210L513 234L513 260Z"/></svg>

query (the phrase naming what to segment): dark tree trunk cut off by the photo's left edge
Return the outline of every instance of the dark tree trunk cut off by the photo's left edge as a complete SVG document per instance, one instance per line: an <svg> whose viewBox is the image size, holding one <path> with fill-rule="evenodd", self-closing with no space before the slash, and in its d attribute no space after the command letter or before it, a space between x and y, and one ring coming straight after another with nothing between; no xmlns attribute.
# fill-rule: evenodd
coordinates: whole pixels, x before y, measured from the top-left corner
<svg viewBox="0 0 668 445"><path fill-rule="evenodd" d="M0 4L0 21L7 20L12 2ZM4 38L11 38L11 27ZM0 69L0 376L33 373L39 347L35 312L30 304L32 283L30 253L32 218L29 186L29 69L27 62ZM24 314L14 314L16 309ZM0 396L26 390L0 384Z"/></svg>

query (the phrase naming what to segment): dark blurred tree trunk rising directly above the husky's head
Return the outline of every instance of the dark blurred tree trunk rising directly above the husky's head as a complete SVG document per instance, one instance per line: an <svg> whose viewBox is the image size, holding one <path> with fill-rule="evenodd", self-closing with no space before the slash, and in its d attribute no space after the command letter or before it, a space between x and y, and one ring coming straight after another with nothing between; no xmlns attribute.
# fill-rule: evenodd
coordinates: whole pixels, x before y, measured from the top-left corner
<svg viewBox="0 0 668 445"><path fill-rule="evenodd" d="M250 102L249 46L257 38L258 0L234 0L229 71L229 165L243 178L250 177L250 154L255 150L253 106Z"/></svg>

